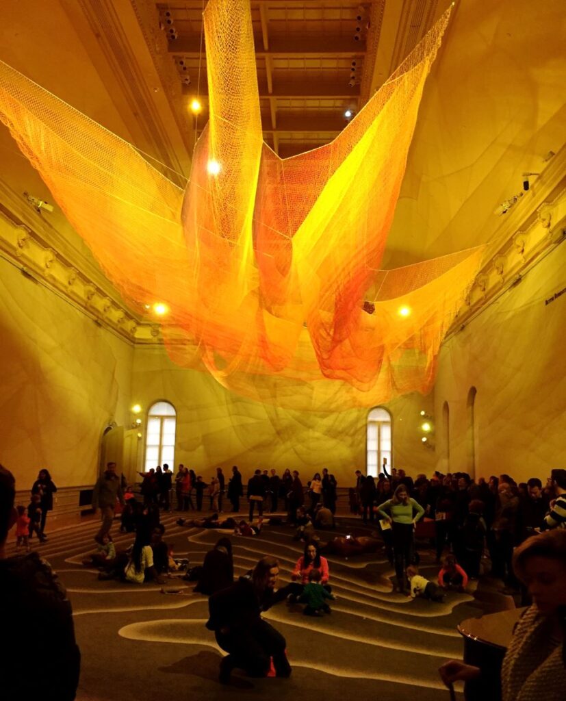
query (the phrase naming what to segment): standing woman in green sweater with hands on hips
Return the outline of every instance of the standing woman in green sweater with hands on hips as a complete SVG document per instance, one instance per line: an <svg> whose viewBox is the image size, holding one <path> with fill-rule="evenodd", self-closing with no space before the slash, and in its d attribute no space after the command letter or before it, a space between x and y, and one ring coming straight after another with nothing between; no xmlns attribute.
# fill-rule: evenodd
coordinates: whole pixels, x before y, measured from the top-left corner
<svg viewBox="0 0 566 701"><path fill-rule="evenodd" d="M399 484L393 498L382 503L379 512L392 527L397 591L403 593L406 590L405 571L413 559L413 531L415 523L424 515L424 509L409 497L406 486Z"/></svg>

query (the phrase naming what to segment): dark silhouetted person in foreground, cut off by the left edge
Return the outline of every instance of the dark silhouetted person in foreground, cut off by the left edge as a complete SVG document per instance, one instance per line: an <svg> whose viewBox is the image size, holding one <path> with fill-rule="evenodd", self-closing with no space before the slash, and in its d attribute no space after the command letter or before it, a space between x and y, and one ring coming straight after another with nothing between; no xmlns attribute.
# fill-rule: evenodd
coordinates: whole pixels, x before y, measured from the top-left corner
<svg viewBox="0 0 566 701"><path fill-rule="evenodd" d="M0 465L0 620L6 643L0 655L0 696L6 701L72 701L81 653L71 604L39 554L6 557L6 538L18 515L14 497L13 475Z"/></svg>

